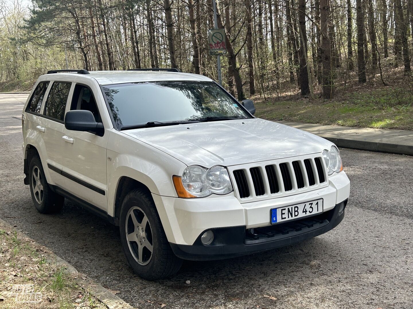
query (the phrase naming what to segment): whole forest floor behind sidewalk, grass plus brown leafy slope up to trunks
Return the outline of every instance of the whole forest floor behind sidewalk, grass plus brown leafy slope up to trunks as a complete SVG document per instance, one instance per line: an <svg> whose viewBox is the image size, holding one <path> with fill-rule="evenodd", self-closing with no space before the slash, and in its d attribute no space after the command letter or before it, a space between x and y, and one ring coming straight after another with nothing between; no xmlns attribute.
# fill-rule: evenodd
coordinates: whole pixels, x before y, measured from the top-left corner
<svg viewBox="0 0 413 309"><path fill-rule="evenodd" d="M351 82L335 84L335 99L324 100L320 87L315 99L303 98L298 87L281 95L252 97L256 117L268 120L358 126L379 129L413 130L413 77L393 70L360 85Z"/></svg>

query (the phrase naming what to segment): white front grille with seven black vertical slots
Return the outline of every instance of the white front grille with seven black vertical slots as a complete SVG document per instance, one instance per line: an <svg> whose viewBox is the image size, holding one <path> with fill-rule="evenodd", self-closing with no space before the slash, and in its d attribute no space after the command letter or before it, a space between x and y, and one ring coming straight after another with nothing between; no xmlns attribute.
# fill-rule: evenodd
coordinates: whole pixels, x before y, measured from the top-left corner
<svg viewBox="0 0 413 309"><path fill-rule="evenodd" d="M232 170L239 199L265 199L306 192L325 187L326 177L321 157L294 157L294 161L278 159L274 162L247 164ZM284 162L283 162L284 161ZM273 163L273 164L268 164ZM243 166L242 166L243 167Z"/></svg>

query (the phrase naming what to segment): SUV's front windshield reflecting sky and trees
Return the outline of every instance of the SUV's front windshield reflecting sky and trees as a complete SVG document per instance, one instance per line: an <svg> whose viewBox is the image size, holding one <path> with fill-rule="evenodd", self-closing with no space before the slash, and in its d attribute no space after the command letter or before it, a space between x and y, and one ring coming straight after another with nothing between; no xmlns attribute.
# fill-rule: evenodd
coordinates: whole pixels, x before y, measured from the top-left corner
<svg viewBox="0 0 413 309"><path fill-rule="evenodd" d="M252 118L214 82L138 82L103 87L118 129L148 122L197 122Z"/></svg>

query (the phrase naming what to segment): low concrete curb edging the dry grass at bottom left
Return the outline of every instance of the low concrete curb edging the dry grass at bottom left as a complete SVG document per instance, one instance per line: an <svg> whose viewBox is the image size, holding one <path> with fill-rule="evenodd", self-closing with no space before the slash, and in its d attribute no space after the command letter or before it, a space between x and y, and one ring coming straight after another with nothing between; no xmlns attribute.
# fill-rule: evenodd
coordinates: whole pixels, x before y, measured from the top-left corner
<svg viewBox="0 0 413 309"><path fill-rule="evenodd" d="M15 229L14 227L11 227L9 225L9 223L5 222L2 219L0 219L0 222L3 225L8 226L10 229ZM36 241L34 241L33 239L31 239L30 237L28 237L23 232L21 232L17 229L15 229L15 230L17 231L17 234L19 234L22 238L29 239L30 241L33 241L37 245L43 246L43 245L40 245L39 243L37 243ZM65 260L63 260L59 256L57 256L55 253L53 253L52 250L50 250L50 251L52 252L51 255L53 255L53 258L54 258L54 260L53 259L52 260L48 259L48 261L50 263L55 263L55 265L57 265L58 267L62 267L64 269L64 272L66 272L67 274L74 274L76 277L78 277L79 275L82 275L81 273L79 273L76 270L76 268L74 268L68 262L66 262ZM85 278L85 279L83 279L83 278ZM121 298L117 297L114 293L107 290L106 288L104 288L100 284L97 284L92 279L88 278L87 276L83 275L80 279L78 278L77 283L82 288L87 290L90 293L90 295L96 297L100 302L102 302L102 304L104 304L108 309L134 309L134 307L132 307L130 304L128 304L127 302L125 302Z"/></svg>

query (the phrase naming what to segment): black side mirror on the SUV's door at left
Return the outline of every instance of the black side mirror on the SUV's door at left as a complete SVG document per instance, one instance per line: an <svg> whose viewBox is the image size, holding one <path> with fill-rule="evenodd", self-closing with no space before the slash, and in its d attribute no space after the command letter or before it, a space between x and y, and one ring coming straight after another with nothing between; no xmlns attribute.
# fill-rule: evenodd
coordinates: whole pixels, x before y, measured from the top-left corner
<svg viewBox="0 0 413 309"><path fill-rule="evenodd" d="M64 127L72 131L104 132L102 122L96 122L90 110L69 110L64 116Z"/></svg>

